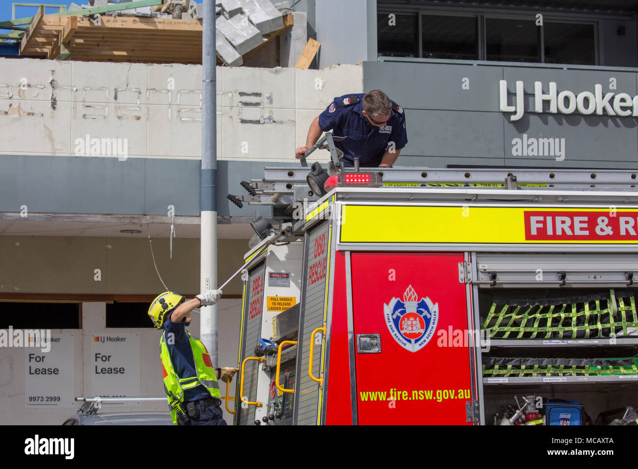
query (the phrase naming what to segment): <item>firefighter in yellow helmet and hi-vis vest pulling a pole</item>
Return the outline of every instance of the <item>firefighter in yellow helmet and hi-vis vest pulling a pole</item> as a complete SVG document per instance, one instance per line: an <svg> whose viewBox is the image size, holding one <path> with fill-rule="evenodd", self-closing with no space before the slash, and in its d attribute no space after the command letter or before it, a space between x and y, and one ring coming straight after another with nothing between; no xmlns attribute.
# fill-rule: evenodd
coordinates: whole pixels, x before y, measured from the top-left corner
<svg viewBox="0 0 638 469"><path fill-rule="evenodd" d="M191 311L215 304L221 290L209 290L184 301L182 295L164 292L153 300L149 316L164 329L160 358L170 416L176 425L226 425L220 408L218 380L230 383L237 368L212 368L208 350L184 327Z"/></svg>

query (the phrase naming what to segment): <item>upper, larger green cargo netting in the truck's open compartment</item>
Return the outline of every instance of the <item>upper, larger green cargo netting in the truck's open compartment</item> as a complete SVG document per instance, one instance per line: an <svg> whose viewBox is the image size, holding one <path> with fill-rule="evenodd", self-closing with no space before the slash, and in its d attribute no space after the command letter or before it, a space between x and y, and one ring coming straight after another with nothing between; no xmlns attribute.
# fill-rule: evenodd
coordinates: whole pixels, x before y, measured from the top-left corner
<svg viewBox="0 0 638 469"><path fill-rule="evenodd" d="M549 299L494 297L483 324L492 339L636 336L637 327L634 290Z"/></svg>

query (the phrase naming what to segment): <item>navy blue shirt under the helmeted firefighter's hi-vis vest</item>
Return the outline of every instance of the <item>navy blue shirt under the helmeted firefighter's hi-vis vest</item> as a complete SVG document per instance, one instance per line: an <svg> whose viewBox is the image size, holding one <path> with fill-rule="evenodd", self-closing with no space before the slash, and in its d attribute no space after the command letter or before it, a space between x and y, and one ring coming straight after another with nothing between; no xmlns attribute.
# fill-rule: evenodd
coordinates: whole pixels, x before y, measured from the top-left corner
<svg viewBox="0 0 638 469"><path fill-rule="evenodd" d="M164 339L168 347L168 354L175 373L180 378L197 376L195 360L193 360L193 349L191 349L188 334L186 334L186 329L184 329L185 326L186 318L182 319L181 322L172 322L170 316L168 316L168 319L164 322ZM174 334L174 336L169 336L168 334ZM169 340L170 338L175 340ZM211 393L202 385L184 390L184 402L198 401L199 399L208 399L210 397Z"/></svg>

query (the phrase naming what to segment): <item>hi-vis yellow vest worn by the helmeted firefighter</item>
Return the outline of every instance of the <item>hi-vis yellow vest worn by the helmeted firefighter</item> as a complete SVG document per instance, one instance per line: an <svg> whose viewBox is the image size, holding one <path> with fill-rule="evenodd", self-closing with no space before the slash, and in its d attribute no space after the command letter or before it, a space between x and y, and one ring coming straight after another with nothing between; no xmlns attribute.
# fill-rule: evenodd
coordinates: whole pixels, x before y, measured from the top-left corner
<svg viewBox="0 0 638 469"><path fill-rule="evenodd" d="M170 354L168 353L168 346L164 332L161 335L159 341L161 348L161 368L164 385L168 391L168 405L170 406L173 400L172 396L175 396L179 402L184 400L184 390L192 389L198 385L202 385L211 394L213 398L221 399L221 393L219 392L219 386L217 383L217 376L215 375L215 369L212 368L211 356L208 354L208 350L202 343L202 341L193 338L190 332L185 331L188 335L188 340L191 344L191 352L193 352L193 361L195 362L195 369L197 370L197 376L184 376L180 378L175 373L175 368L170 360ZM174 412L171 412L171 415ZM175 419L173 419L175 423Z"/></svg>

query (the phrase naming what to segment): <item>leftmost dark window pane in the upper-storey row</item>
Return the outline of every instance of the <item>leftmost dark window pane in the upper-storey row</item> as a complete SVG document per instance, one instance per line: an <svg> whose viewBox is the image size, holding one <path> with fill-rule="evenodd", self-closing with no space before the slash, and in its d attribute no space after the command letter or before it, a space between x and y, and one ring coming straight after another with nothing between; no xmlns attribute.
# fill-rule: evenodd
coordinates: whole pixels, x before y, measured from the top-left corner
<svg viewBox="0 0 638 469"><path fill-rule="evenodd" d="M417 15L377 13L377 48L380 56L417 57Z"/></svg>

